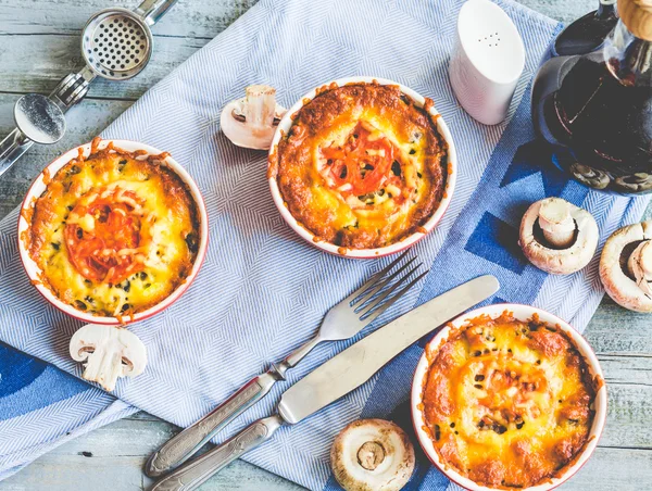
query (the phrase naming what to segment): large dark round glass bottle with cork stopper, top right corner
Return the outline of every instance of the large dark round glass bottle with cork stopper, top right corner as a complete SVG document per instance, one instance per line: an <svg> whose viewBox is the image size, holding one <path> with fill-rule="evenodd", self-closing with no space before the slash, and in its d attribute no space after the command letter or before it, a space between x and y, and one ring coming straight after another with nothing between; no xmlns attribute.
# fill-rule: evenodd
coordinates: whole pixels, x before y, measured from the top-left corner
<svg viewBox="0 0 652 491"><path fill-rule="evenodd" d="M619 5L636 10L641 2L652 8L652 0ZM537 135L553 146L553 163L575 179L609 192L647 193L652 191L652 28L648 35L645 17L629 9L635 36L623 12L601 49L541 66L532 117Z"/></svg>

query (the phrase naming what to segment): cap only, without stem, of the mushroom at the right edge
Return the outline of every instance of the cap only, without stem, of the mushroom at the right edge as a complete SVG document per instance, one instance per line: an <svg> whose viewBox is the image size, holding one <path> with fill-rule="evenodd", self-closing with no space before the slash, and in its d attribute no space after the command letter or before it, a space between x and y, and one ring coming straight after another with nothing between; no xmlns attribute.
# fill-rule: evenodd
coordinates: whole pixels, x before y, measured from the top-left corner
<svg viewBox="0 0 652 491"><path fill-rule="evenodd" d="M650 239L652 221L628 225L612 234L600 256L600 279L604 290L614 302L635 312L652 312L652 299L625 273L622 255L627 246Z"/></svg>

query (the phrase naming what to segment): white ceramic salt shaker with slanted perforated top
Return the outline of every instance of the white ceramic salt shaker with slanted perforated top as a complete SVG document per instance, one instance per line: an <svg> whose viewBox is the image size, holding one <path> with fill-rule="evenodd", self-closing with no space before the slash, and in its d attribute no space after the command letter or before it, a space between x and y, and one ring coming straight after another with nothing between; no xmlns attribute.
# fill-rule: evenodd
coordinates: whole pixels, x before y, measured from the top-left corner
<svg viewBox="0 0 652 491"><path fill-rule="evenodd" d="M525 66L525 48L507 14L489 0L468 0L457 17L449 75L462 108L494 125L507 115Z"/></svg>

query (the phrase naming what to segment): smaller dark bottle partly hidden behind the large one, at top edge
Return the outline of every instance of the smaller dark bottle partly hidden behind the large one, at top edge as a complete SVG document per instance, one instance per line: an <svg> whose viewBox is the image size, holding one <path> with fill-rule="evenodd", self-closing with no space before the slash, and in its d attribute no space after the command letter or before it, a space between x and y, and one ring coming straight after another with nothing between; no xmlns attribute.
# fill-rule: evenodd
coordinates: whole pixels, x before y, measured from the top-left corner
<svg viewBox="0 0 652 491"><path fill-rule="evenodd" d="M618 22L616 0L600 0L598 10L568 25L554 41L557 55L585 54L598 49Z"/></svg>

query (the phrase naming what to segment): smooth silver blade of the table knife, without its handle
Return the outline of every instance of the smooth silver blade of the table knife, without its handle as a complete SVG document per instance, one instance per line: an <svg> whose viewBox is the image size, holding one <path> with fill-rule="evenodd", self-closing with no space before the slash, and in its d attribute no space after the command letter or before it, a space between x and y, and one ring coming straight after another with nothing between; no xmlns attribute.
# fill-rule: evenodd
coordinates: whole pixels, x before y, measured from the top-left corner
<svg viewBox="0 0 652 491"><path fill-rule="evenodd" d="M297 424L362 386L412 343L499 289L493 276L480 276L424 303L358 341L303 377L280 398L278 414Z"/></svg>

